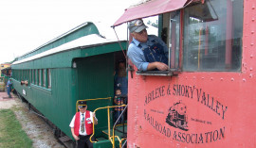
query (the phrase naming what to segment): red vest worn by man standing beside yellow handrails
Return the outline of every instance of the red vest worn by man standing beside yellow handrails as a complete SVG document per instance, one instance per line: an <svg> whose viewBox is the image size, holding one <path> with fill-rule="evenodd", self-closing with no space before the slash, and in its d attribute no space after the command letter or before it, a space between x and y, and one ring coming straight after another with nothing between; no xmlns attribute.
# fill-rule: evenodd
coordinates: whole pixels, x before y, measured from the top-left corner
<svg viewBox="0 0 256 148"><path fill-rule="evenodd" d="M93 123L91 120L86 120L86 119L90 119L90 111L86 110L85 111L85 130L86 130L86 134L87 135L91 135L93 133ZM75 119L75 123L74 123L74 132L76 136L79 136L79 128L80 128L80 112L76 113L76 119Z"/></svg>

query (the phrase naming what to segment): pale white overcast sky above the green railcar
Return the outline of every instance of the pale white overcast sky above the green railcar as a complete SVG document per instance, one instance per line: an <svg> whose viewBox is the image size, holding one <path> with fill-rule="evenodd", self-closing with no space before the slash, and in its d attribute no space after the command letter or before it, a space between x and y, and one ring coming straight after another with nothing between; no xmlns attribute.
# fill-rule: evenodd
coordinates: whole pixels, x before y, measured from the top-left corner
<svg viewBox="0 0 256 148"><path fill-rule="evenodd" d="M101 22L110 27L125 8L137 2L0 0L0 63L12 61L85 22Z"/></svg>

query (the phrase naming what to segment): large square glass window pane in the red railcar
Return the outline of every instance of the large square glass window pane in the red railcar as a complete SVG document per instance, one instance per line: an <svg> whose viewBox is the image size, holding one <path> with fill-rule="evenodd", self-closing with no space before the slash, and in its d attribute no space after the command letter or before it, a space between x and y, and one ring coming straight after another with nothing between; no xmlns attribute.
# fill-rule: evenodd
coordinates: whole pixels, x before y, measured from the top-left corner
<svg viewBox="0 0 256 148"><path fill-rule="evenodd" d="M242 0L206 0L184 9L184 71L240 71Z"/></svg>

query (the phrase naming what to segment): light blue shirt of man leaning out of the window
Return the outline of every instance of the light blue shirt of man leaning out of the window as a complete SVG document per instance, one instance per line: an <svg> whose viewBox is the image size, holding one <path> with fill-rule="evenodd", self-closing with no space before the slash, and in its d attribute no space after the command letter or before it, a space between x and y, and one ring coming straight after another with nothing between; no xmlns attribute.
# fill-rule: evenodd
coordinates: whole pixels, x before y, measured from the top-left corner
<svg viewBox="0 0 256 148"><path fill-rule="evenodd" d="M149 65L149 62L146 61L141 48L147 48L148 46L153 45L154 42L158 42L163 46L165 55L168 58L168 48L166 44L155 35L149 35L147 42L140 42L133 39L133 41L130 43L127 56L132 60L139 71L147 71Z"/></svg>

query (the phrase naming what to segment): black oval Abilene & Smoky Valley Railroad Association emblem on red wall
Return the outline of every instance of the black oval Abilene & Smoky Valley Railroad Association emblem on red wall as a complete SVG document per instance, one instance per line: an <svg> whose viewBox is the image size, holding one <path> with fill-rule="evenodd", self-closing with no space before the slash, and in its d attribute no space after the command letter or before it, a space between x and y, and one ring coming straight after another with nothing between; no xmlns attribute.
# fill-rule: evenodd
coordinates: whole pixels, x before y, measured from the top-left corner
<svg viewBox="0 0 256 148"><path fill-rule="evenodd" d="M184 143L224 140L227 111L228 107L207 91L181 84L155 88L144 100L146 123L164 137ZM219 122L214 123L216 118Z"/></svg>

